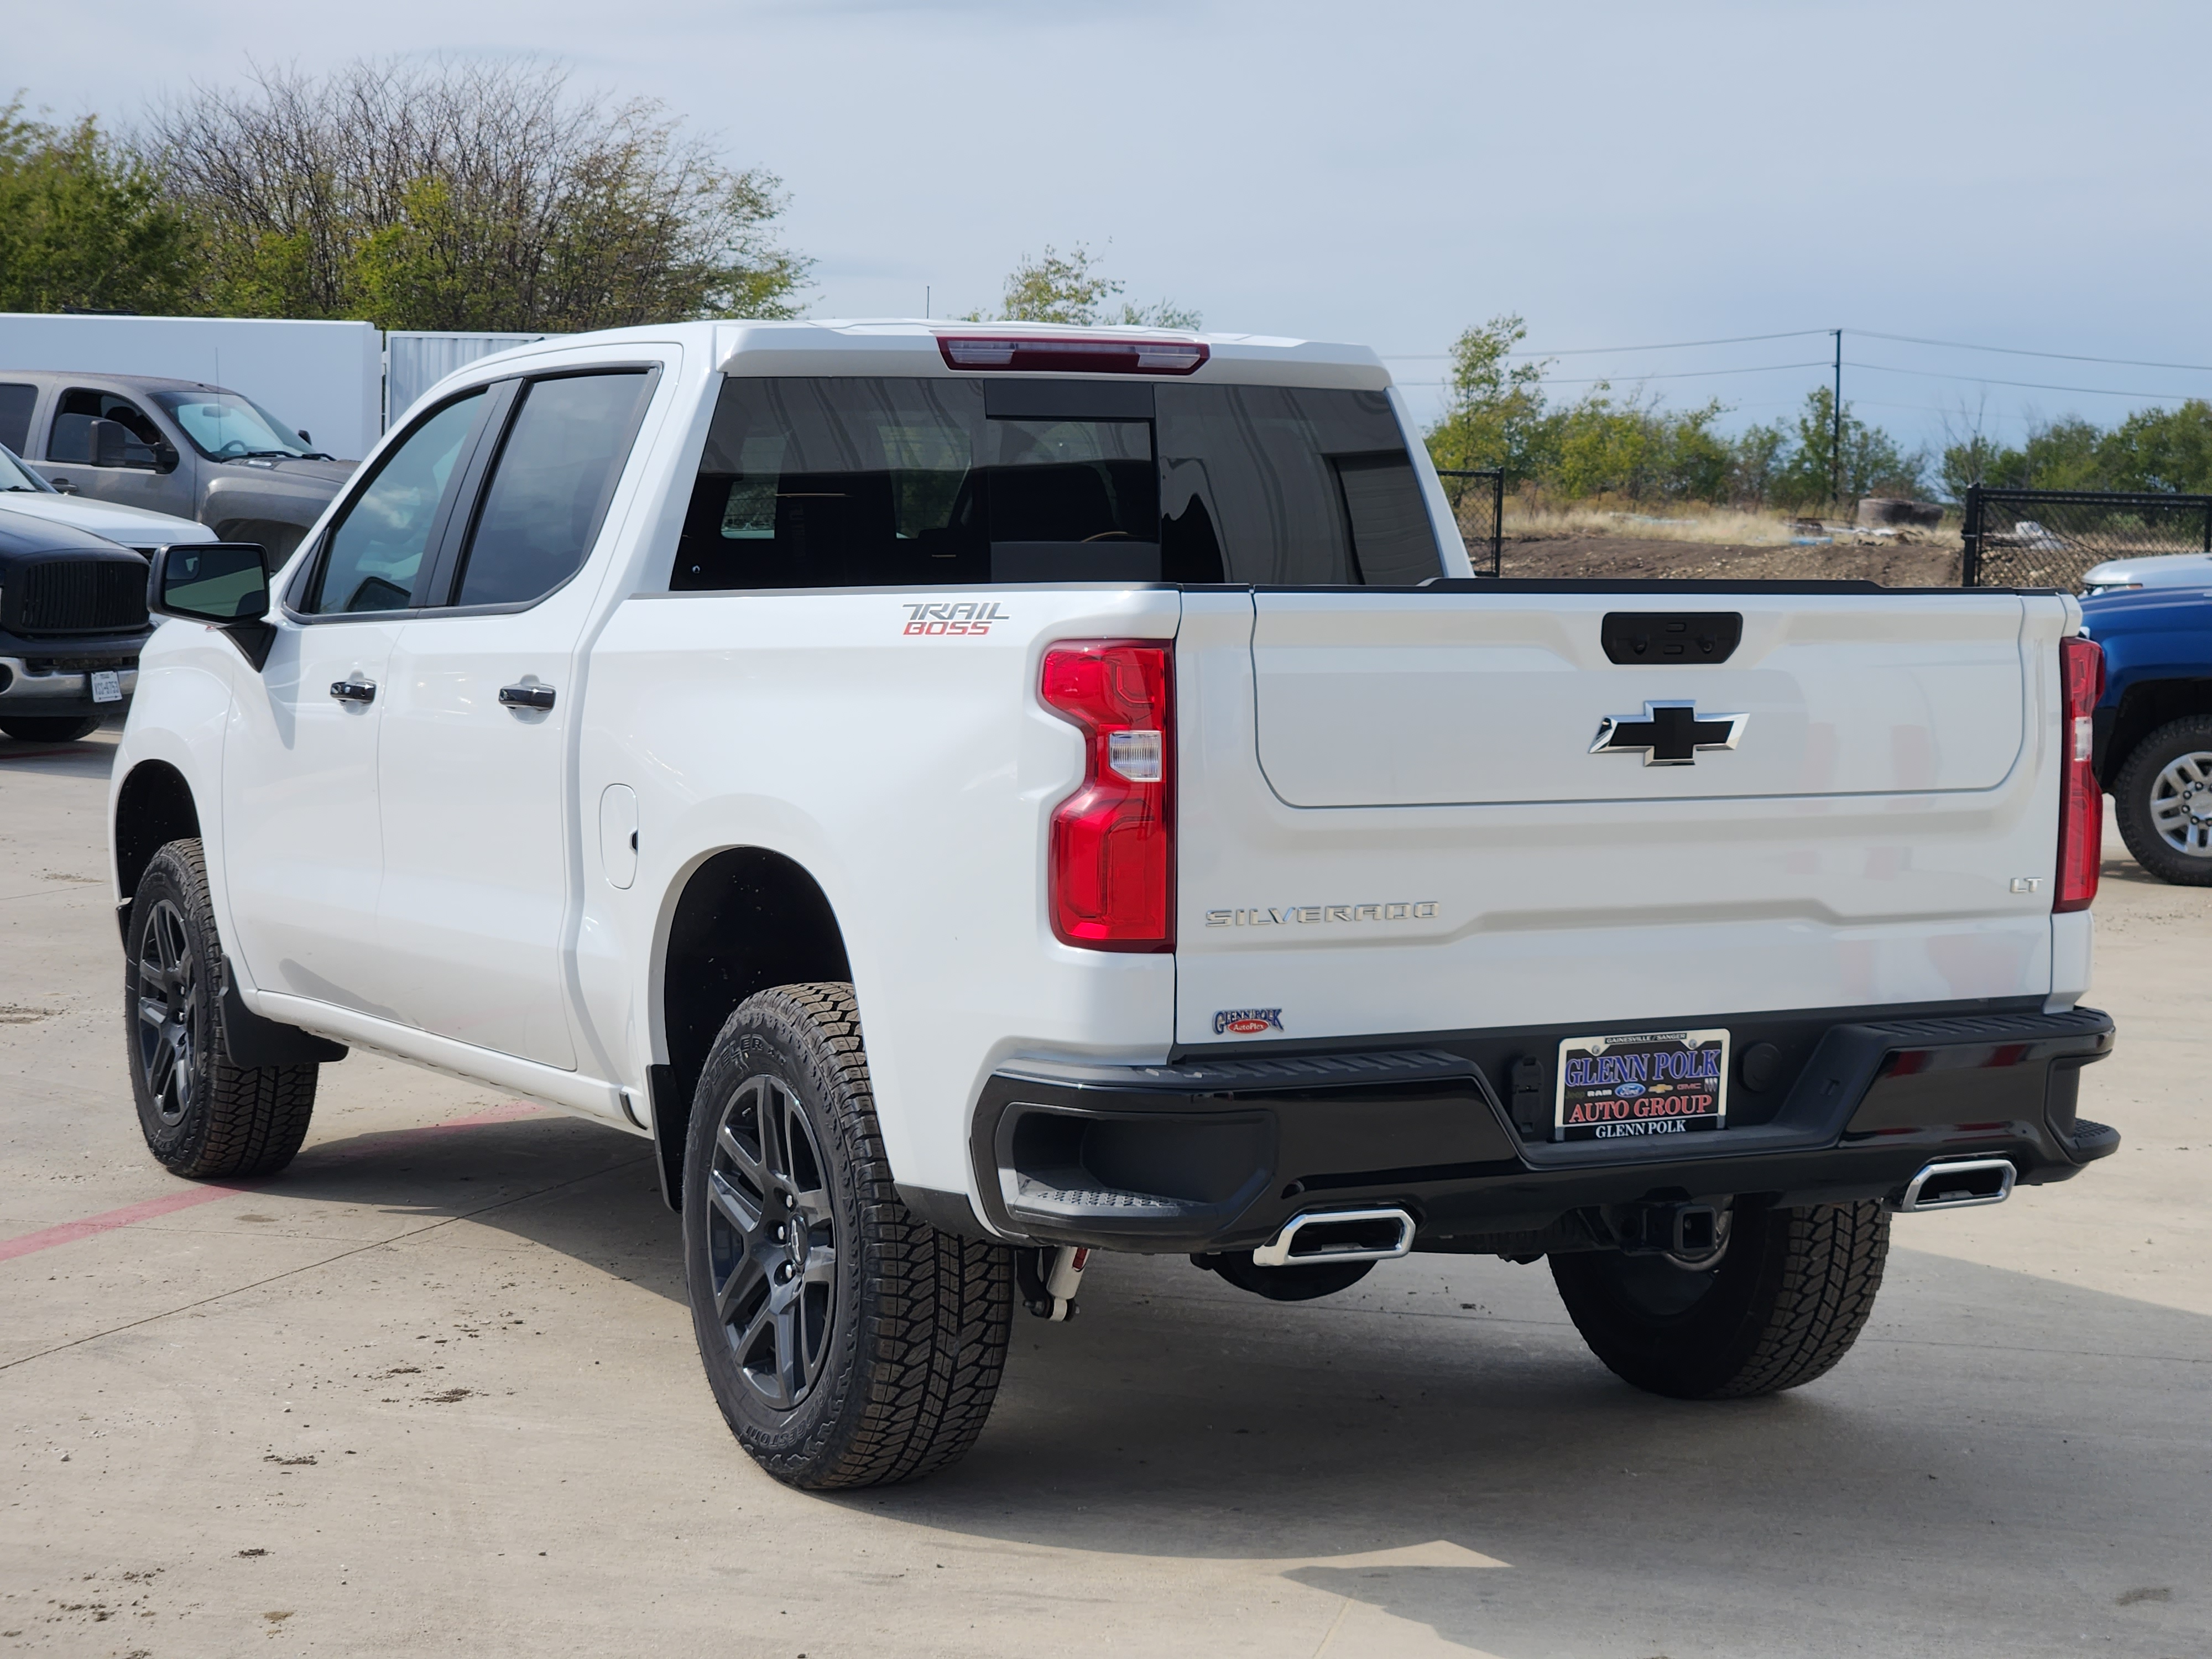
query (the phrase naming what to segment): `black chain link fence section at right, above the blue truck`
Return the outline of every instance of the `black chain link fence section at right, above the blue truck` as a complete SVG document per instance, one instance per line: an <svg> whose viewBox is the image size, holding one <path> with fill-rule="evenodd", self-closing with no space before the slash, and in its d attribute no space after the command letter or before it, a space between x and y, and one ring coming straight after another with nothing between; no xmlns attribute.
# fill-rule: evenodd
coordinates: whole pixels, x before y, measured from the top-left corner
<svg viewBox="0 0 2212 1659"><path fill-rule="evenodd" d="M1966 491L1969 588L2081 586L2093 564L2146 553L2212 553L2212 495L2108 489Z"/></svg>

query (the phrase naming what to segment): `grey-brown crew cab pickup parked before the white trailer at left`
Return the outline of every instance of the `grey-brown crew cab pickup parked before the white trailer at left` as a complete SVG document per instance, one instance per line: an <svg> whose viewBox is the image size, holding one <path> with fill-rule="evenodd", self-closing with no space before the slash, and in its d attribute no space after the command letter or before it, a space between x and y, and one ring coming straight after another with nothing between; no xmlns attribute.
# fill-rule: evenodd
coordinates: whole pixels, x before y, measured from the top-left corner
<svg viewBox="0 0 2212 1659"><path fill-rule="evenodd" d="M64 495L195 518L272 560L356 465L237 392L142 374L0 369L0 445Z"/></svg>

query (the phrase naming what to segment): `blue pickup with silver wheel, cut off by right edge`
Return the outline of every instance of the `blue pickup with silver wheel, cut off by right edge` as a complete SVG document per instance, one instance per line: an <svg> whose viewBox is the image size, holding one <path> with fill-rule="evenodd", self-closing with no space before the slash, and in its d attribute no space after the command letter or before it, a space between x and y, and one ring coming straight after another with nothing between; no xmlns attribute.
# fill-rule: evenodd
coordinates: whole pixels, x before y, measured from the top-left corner
<svg viewBox="0 0 2212 1659"><path fill-rule="evenodd" d="M2212 887L2212 588L2081 599L2104 646L2093 765L2152 876Z"/></svg>

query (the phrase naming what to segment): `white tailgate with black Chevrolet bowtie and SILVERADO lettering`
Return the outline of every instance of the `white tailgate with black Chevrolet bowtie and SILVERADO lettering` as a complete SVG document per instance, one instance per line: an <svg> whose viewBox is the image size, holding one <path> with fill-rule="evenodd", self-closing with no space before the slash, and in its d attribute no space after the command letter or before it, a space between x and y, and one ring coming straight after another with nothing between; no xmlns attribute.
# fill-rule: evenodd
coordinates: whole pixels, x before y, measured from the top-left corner
<svg viewBox="0 0 2212 1659"><path fill-rule="evenodd" d="M1608 613L1741 639L1610 661ZM1177 1040L2044 993L2064 619L1993 591L1186 593Z"/></svg>

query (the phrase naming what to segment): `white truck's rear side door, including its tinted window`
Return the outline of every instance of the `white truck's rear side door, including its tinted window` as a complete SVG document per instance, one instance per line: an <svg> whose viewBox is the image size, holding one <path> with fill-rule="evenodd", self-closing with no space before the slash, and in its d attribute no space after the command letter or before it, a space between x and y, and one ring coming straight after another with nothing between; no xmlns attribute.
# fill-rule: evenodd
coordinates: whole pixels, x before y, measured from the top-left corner
<svg viewBox="0 0 2212 1659"><path fill-rule="evenodd" d="M502 383L431 604L392 653L378 763L378 945L409 1024L575 1066L564 920L568 732L593 546L655 372Z"/></svg>

